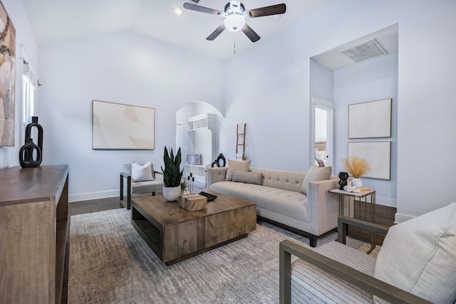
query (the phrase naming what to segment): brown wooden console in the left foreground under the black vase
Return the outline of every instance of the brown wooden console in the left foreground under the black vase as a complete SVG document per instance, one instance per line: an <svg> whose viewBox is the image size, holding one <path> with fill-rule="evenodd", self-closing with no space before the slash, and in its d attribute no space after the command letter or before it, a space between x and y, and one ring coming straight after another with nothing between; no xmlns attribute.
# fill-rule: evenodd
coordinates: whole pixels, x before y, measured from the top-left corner
<svg viewBox="0 0 456 304"><path fill-rule="evenodd" d="M68 165L1 169L0 194L0 303L61 303Z"/></svg>

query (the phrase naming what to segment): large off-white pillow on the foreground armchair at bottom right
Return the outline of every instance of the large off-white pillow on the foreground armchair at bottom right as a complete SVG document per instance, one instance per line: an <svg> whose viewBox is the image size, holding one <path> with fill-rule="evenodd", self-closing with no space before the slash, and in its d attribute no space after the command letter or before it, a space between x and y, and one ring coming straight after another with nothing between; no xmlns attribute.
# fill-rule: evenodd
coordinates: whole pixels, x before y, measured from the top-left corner
<svg viewBox="0 0 456 304"><path fill-rule="evenodd" d="M374 276L432 303L455 303L455 249L456 202L392 226Z"/></svg>

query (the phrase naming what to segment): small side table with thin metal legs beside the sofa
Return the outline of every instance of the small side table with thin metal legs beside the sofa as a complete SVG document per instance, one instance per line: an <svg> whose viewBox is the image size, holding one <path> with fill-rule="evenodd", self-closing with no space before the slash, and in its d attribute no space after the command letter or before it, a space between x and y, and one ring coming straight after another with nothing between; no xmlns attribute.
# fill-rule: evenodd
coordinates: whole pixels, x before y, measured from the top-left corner
<svg viewBox="0 0 456 304"><path fill-rule="evenodd" d="M348 201L348 216L351 216L350 206L355 200L360 202L371 204L371 222L375 221L375 190L363 191L363 192L346 192L341 189L332 189L329 192L338 194L339 196L339 216L344 216L345 211L345 201ZM375 249L375 232L371 232L371 250L368 253L371 253Z"/></svg>

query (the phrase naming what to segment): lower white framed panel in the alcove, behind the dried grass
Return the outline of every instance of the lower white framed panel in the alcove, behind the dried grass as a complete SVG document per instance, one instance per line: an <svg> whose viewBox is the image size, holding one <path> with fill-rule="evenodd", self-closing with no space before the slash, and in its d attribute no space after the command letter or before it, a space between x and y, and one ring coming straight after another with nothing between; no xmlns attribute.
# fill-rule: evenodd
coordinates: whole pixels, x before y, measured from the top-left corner
<svg viewBox="0 0 456 304"><path fill-rule="evenodd" d="M363 177L391 179L391 142L348 142L348 158L366 159L371 171Z"/></svg>

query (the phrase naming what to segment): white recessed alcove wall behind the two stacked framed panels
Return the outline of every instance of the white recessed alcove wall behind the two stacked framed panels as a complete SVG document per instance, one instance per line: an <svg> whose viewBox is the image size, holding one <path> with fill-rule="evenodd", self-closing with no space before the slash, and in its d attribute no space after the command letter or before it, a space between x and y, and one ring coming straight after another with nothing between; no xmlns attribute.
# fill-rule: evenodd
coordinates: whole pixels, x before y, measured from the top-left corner
<svg viewBox="0 0 456 304"><path fill-rule="evenodd" d="M348 140L348 105L392 98L391 137ZM348 142L391 142L391 179L363 177L364 187L375 189L378 204L396 206L398 186L398 53L342 68L334 72L336 129L333 159L335 172L346 171L342 159L347 157Z"/></svg>

